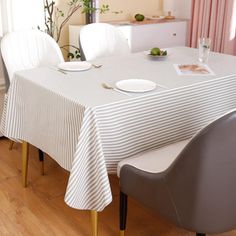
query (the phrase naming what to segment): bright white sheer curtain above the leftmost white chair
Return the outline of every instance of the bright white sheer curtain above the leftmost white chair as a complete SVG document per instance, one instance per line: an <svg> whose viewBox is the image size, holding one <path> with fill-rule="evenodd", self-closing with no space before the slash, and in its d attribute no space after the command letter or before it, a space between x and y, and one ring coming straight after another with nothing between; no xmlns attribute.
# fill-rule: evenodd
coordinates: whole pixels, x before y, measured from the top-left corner
<svg viewBox="0 0 236 236"><path fill-rule="evenodd" d="M15 30L43 27L43 0L0 0L2 34Z"/></svg>

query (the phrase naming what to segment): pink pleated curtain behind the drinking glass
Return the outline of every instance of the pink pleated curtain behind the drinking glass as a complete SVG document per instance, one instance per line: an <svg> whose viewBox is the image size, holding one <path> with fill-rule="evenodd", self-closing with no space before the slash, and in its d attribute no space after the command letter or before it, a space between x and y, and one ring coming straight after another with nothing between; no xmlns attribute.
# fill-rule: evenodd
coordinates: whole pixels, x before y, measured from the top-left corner
<svg viewBox="0 0 236 236"><path fill-rule="evenodd" d="M212 50L236 55L236 0L192 0L189 46L199 37L212 40Z"/></svg>

